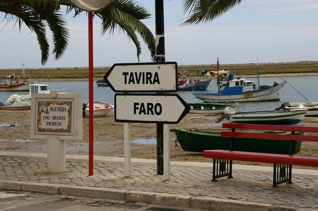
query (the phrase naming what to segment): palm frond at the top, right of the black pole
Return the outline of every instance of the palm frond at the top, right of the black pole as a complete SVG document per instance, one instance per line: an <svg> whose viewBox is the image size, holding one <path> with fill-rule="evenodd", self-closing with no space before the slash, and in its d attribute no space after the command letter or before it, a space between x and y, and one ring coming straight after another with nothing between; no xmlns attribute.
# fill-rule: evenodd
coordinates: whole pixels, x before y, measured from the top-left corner
<svg viewBox="0 0 318 211"><path fill-rule="evenodd" d="M242 0L183 0L183 11L188 14L183 22L186 24L198 24L209 22L221 16Z"/></svg>

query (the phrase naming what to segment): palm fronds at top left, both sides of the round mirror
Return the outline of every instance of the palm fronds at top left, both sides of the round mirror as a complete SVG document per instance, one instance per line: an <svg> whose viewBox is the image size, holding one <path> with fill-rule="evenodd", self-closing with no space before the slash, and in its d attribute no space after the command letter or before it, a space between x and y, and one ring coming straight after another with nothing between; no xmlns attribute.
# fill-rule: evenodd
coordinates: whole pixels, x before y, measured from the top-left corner
<svg viewBox="0 0 318 211"><path fill-rule="evenodd" d="M53 51L55 59L61 58L69 43L69 30L61 6L67 6L67 13L74 12L74 17L82 13L69 0L0 0L0 13L8 22L14 21L21 29L24 23L37 36L41 50L41 63L44 65L49 57L49 43L46 38L46 25L53 36ZM101 18L101 34L114 33L116 29L124 31L137 48L137 57L141 54L141 43L138 34L144 40L155 58L155 38L150 29L141 20L150 18L151 14L134 0L114 0L106 9L95 12L95 17ZM6 25L5 24L5 25ZM5 27L4 25L4 27Z"/></svg>

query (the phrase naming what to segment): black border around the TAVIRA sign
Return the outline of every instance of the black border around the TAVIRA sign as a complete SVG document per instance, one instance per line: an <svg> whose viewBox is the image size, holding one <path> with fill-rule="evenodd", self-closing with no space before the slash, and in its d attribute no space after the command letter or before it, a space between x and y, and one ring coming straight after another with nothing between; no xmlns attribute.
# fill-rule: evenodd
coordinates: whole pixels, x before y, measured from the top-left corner
<svg viewBox="0 0 318 211"><path fill-rule="evenodd" d="M111 71L116 67L116 66L142 66L142 65L175 65L175 89L171 90L116 90L113 85L110 83L110 81L107 79ZM114 92L176 92L177 91L177 85L178 85L178 64L176 62L149 62L149 63L117 63L114 64L104 75L104 81L109 85L109 87L114 91Z"/></svg>

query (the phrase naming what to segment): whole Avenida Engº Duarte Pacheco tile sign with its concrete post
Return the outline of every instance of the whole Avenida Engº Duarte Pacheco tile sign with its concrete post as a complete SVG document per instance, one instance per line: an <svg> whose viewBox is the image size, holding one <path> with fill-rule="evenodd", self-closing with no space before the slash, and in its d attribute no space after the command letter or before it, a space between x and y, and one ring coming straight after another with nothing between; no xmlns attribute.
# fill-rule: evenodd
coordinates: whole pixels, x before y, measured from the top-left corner
<svg viewBox="0 0 318 211"><path fill-rule="evenodd" d="M32 94L31 139L47 139L48 173L65 171L65 140L82 139L81 94Z"/></svg>

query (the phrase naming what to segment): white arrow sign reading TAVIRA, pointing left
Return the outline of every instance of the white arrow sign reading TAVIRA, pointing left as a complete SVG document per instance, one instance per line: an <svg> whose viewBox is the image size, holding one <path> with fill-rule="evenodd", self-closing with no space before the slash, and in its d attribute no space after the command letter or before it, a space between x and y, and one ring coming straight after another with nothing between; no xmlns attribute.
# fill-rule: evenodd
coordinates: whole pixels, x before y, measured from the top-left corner
<svg viewBox="0 0 318 211"><path fill-rule="evenodd" d="M104 80L114 92L176 92L177 63L114 64Z"/></svg>

